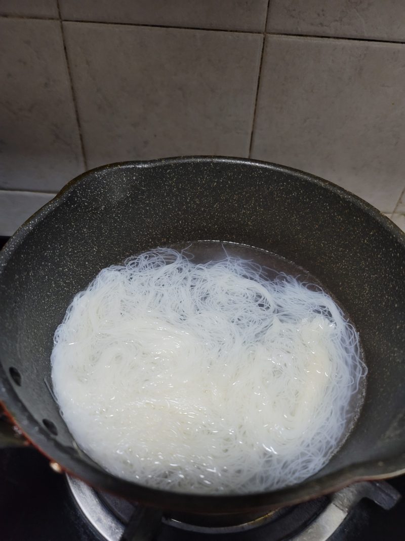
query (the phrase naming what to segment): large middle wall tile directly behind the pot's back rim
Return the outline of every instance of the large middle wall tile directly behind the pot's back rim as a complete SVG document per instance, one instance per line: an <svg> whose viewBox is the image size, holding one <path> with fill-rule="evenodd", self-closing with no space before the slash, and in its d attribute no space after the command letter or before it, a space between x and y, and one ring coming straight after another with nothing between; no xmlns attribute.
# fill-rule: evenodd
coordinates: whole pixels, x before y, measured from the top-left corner
<svg viewBox="0 0 405 541"><path fill-rule="evenodd" d="M64 23L89 166L247 156L262 36Z"/></svg>

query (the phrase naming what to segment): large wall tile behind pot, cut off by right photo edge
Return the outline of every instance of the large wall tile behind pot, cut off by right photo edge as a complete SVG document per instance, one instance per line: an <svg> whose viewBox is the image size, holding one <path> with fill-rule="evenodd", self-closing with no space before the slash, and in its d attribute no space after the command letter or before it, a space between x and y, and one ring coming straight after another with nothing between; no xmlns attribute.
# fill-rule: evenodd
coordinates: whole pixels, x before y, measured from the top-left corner
<svg viewBox="0 0 405 541"><path fill-rule="evenodd" d="M393 212L405 170L405 47L268 36L252 157Z"/></svg>

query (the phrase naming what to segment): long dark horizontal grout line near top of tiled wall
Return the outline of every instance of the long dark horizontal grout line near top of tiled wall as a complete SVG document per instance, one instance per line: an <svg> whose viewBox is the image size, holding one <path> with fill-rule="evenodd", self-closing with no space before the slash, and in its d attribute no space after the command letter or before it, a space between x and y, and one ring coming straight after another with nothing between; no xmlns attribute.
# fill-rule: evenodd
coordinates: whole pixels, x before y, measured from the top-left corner
<svg viewBox="0 0 405 541"><path fill-rule="evenodd" d="M59 6L59 4L58 4ZM268 15L268 12L267 12ZM231 32L231 34L253 34L253 35L267 35L267 36L285 36L285 37L301 37L301 38L317 38L317 39L335 39L339 41L360 41L367 43L394 43L396 45L404 45L405 41L401 39L373 39L363 37L345 37L345 36L317 36L315 34L293 34L288 32L259 32L257 30L230 30L227 28L200 28L200 27L179 27L176 25L167 24L146 24L146 23L121 23L121 22L109 22L109 21L83 21L82 19L62 19L62 17L24 17L23 15L0 15L3 19L23 19L25 21L60 21L66 23L80 23L80 24L104 24L104 25L116 25L123 27L141 27L141 28L167 28L175 30L199 30L205 32Z"/></svg>

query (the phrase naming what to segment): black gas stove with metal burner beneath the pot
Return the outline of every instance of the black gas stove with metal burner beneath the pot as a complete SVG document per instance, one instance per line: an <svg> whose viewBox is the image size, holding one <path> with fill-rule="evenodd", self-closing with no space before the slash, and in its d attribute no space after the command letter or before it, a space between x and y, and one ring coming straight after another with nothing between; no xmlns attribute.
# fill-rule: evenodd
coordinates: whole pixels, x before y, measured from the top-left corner
<svg viewBox="0 0 405 541"><path fill-rule="evenodd" d="M197 519L96 491L53 471L33 448L0 450L4 541L394 541L405 529L403 496L405 476L363 481L261 516Z"/></svg>

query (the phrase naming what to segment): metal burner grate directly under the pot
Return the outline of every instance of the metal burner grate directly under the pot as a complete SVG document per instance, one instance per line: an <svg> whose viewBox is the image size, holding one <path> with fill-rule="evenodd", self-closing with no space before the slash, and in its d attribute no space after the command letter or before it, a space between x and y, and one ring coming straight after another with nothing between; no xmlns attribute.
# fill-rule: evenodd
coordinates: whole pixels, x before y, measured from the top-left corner
<svg viewBox="0 0 405 541"><path fill-rule="evenodd" d="M127 500L98 492L78 479L67 476L68 484L80 510L105 541L210 541L235 539L255 541L290 539L326 541L339 528L354 506L363 498L373 500L383 509L391 509L401 498L384 481L363 481L311 502L285 507L266 514L215 516L164 514L145 509ZM141 533L152 528L156 536ZM152 533L152 532L150 532Z"/></svg>

